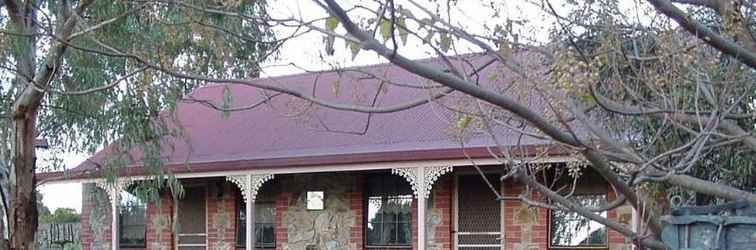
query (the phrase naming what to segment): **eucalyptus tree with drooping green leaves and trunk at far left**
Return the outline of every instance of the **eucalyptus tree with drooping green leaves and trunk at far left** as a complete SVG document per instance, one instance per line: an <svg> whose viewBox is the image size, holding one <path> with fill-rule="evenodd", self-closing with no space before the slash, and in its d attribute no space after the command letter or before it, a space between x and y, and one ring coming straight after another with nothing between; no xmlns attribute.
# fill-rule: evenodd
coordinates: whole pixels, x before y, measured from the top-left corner
<svg viewBox="0 0 756 250"><path fill-rule="evenodd" d="M166 72L255 76L258 63L279 43L259 22L267 17L264 6L264 1L0 2L0 194L9 211L10 249L34 244L35 139L74 151L92 152L111 142L124 152L140 148L154 163L156 181L146 183L162 185L157 176L164 173L150 152L160 147L158 138L177 131L162 125L170 112L160 112L205 84Z"/></svg>

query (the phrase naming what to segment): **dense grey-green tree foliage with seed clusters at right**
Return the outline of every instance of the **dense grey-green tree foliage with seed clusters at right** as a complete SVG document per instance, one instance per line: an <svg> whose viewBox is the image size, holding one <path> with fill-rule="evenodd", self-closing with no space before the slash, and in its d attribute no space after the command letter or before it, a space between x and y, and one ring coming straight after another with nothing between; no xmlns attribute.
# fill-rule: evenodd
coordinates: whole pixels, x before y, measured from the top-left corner
<svg viewBox="0 0 756 250"><path fill-rule="evenodd" d="M560 30L555 37L564 44L560 64L573 66L570 77L555 79L566 89L588 103L601 98L632 102L643 107L659 107L678 112L706 113L716 110L729 114L752 114L756 100L756 71L699 43L691 34L670 30L666 25L647 25L623 19L616 2L599 5L575 4L575 9L591 8L591 12L575 11L570 19L584 20L579 25ZM727 35L721 19L708 9L695 12L710 27ZM566 72L558 69L557 72ZM558 77L564 74L558 75ZM576 83L576 84L573 84ZM595 84L592 84L595 83ZM599 103L601 104L601 103ZM628 116L620 112L596 112L608 116L606 122L613 134L648 158L677 149L700 139L691 133L691 126L675 124L658 116ZM698 126L706 126L713 116L702 115ZM737 126L753 130L756 116L733 119ZM742 190L756 190L756 156L747 145L728 143L721 139L717 147L703 147L694 154L669 154L656 164L667 169L686 172L697 178L730 185ZM690 151L683 151L688 153ZM669 185L657 187L666 192ZM671 191L671 190L670 190ZM670 194L672 195L672 194ZM706 205L721 200L696 192L676 193L692 204Z"/></svg>

